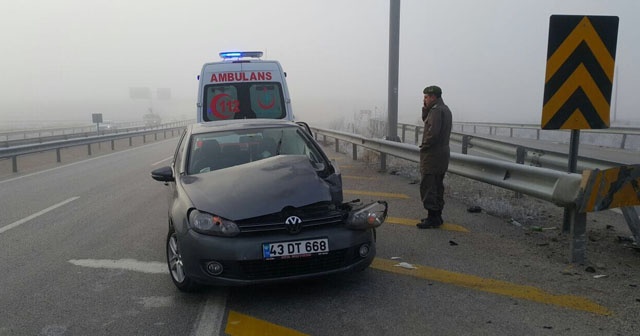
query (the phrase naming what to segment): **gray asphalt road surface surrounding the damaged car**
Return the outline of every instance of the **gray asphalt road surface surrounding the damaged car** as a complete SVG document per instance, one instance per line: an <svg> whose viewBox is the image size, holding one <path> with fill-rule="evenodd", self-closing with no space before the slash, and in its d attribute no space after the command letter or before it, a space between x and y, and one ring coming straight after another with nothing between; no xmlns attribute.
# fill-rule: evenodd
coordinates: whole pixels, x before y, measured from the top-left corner
<svg viewBox="0 0 640 336"><path fill-rule="evenodd" d="M456 197L447 198L445 227L418 230L414 223L424 211L410 178L379 173L375 165L330 149L343 173L345 199L389 202L390 218L378 231L378 258L371 268L183 294L164 264L166 187L149 176L169 163L175 144L161 141L0 180L0 335L640 330L636 252L628 250L622 266L606 265L607 271L622 267L624 274L594 278L584 267L545 253L522 227L485 212L469 213ZM566 241L556 241L566 248ZM397 266L402 262L415 268Z"/></svg>

